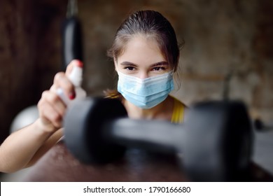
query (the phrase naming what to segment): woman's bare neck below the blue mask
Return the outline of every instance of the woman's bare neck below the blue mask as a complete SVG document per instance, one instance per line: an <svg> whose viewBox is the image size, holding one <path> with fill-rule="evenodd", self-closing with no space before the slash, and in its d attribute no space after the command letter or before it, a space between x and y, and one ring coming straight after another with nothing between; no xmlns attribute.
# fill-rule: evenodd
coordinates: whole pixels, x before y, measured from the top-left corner
<svg viewBox="0 0 273 196"><path fill-rule="evenodd" d="M132 119L158 119L158 120L171 120L172 111L174 108L174 98L168 96L163 102L153 107L152 109L141 109L127 100L123 100L125 109L127 110L129 118Z"/></svg>

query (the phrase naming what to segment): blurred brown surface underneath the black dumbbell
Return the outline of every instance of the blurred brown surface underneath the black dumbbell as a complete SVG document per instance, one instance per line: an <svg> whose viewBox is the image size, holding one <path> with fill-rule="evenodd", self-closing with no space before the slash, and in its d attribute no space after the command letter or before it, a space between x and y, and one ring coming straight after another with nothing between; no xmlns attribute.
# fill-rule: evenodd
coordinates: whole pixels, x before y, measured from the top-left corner
<svg viewBox="0 0 273 196"><path fill-rule="evenodd" d="M116 162L105 165L84 164L68 151L64 140L52 146L24 176L27 182L184 182L175 155L154 154L141 148L128 148ZM23 177L23 178L22 178ZM247 182L273 182L272 174L251 162ZM217 186L217 184L216 184Z"/></svg>

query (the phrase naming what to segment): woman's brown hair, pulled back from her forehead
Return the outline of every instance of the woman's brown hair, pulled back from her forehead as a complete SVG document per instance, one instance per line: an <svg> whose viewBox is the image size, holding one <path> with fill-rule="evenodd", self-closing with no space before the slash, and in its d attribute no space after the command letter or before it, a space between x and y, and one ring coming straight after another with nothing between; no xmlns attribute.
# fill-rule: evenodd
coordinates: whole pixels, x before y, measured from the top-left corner
<svg viewBox="0 0 273 196"><path fill-rule="evenodd" d="M154 10L140 10L124 20L116 32L113 45L107 51L107 55L114 60L117 59L123 54L130 38L137 34L155 38L162 55L176 71L179 64L179 50L183 43L179 45L171 23L161 13ZM106 92L106 94L109 93Z"/></svg>

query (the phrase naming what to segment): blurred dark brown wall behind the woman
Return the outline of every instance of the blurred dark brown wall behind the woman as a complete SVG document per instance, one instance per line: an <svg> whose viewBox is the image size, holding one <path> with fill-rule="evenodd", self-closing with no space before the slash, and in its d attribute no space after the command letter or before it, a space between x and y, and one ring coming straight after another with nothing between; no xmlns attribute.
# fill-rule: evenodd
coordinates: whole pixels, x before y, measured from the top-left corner
<svg viewBox="0 0 273 196"><path fill-rule="evenodd" d="M36 105L62 70L62 22L67 0L0 0L0 142L15 116ZM106 57L120 23L134 10L153 9L172 23L181 50L175 97L190 105L242 99L253 118L273 120L273 1L78 0L83 29L83 87L90 96L116 87Z"/></svg>

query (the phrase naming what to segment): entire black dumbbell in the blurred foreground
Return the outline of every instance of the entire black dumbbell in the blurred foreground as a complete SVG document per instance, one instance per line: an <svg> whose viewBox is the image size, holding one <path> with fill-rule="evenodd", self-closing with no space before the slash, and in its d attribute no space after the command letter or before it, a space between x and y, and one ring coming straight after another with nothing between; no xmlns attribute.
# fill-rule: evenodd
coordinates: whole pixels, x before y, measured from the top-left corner
<svg viewBox="0 0 273 196"><path fill-rule="evenodd" d="M132 120L116 99L75 102L64 119L65 142L78 160L110 162L126 147L176 153L193 181L239 181L251 162L253 132L241 102L204 102L186 122Z"/></svg>

